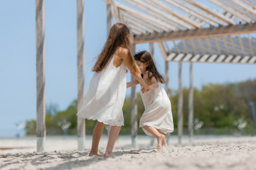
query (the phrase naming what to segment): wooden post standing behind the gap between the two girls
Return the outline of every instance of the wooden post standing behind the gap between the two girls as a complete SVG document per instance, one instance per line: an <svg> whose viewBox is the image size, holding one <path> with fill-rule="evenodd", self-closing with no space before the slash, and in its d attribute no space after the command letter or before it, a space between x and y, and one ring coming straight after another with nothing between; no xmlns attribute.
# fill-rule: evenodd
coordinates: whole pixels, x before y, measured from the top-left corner
<svg viewBox="0 0 256 170"><path fill-rule="evenodd" d="M135 44L132 44L132 55L134 55L136 51ZM134 77L132 77L134 80ZM132 147L137 146L137 91L136 86L132 86L132 113L131 113L131 126L132 126Z"/></svg>

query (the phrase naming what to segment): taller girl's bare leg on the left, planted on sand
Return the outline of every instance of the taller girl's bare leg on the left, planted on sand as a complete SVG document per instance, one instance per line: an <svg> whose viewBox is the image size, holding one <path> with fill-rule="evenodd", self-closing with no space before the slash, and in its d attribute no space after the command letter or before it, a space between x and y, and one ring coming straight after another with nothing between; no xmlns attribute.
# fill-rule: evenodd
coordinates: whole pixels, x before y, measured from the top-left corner
<svg viewBox="0 0 256 170"><path fill-rule="evenodd" d="M90 150L90 154L89 154L90 157L92 157L93 155L102 157L102 154L100 154L98 147L99 147L100 137L102 135L104 127L105 127L104 123L97 122L95 125L95 128L93 129L92 149Z"/></svg>

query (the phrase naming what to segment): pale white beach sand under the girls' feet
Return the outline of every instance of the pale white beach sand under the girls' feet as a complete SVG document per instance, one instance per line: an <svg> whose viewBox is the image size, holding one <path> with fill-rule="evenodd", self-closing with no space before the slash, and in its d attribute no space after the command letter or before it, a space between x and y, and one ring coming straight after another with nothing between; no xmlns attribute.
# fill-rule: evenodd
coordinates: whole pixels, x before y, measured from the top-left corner
<svg viewBox="0 0 256 170"><path fill-rule="evenodd" d="M37 153L36 138L0 139L0 169L256 169L256 137L195 137L193 142L171 137L171 152L157 152L149 147L150 138L139 136L138 148L131 139L120 136L114 148L115 157L87 157L91 137L84 152L76 151L76 137L48 137L46 151ZM107 137L100 142L104 152Z"/></svg>

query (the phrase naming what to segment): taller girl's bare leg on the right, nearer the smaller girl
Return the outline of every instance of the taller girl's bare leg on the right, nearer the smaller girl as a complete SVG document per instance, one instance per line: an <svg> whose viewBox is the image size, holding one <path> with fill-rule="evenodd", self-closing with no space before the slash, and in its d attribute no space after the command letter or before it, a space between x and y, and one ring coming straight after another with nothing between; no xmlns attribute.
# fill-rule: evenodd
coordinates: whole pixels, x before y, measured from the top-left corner
<svg viewBox="0 0 256 170"><path fill-rule="evenodd" d="M110 129L110 135L109 135L109 140L107 142L107 148L106 152L104 154L104 157L111 157L112 156L112 151L114 148L114 143L117 140L117 137L119 135L119 132L121 130L121 126L112 126Z"/></svg>

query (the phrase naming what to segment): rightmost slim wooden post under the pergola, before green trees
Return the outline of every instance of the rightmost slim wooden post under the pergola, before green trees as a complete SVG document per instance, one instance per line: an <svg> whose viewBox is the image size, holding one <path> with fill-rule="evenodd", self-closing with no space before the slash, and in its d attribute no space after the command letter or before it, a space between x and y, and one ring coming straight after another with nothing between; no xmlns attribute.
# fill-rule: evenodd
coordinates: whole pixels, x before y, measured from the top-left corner
<svg viewBox="0 0 256 170"><path fill-rule="evenodd" d="M193 62L190 63L190 86L188 96L188 135L191 142L193 137Z"/></svg>

